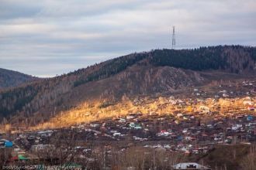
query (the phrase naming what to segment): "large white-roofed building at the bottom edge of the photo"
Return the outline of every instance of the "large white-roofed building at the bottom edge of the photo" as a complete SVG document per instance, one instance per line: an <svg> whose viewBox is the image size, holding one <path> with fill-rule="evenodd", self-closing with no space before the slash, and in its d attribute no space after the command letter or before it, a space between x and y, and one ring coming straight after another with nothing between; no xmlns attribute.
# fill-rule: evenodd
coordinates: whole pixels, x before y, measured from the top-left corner
<svg viewBox="0 0 256 170"><path fill-rule="evenodd" d="M211 168L208 168L204 165L199 165L195 162L185 162L185 163L179 163L176 165L173 165L174 170L211 170Z"/></svg>

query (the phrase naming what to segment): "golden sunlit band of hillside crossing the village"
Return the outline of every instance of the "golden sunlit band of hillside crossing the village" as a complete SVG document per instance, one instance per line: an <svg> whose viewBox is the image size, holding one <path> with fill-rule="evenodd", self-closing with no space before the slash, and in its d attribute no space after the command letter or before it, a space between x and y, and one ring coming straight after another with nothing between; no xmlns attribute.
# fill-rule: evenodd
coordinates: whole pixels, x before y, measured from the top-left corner
<svg viewBox="0 0 256 170"><path fill-rule="evenodd" d="M129 114L143 114L150 116L170 116L174 120L183 120L187 115L194 115L209 121L216 117L236 117L240 114L255 114L248 106L256 107L256 97L244 97L216 100L178 100L172 97L158 97L156 99L140 98L140 100L123 100L119 104L82 104L72 110L54 115L50 121L39 124L33 129L64 128L82 123L92 123L106 119L126 117Z"/></svg>

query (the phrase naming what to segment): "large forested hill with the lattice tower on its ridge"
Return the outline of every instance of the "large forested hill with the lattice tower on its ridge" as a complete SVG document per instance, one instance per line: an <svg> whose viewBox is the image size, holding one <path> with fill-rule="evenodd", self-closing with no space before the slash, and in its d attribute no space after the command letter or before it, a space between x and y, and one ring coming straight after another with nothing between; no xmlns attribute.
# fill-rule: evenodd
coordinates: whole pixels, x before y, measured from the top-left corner
<svg viewBox="0 0 256 170"><path fill-rule="evenodd" d="M5 90L0 93L0 117L38 124L85 103L98 102L106 107L124 98L173 94L213 80L254 76L255 70L255 47L209 46L132 53Z"/></svg>

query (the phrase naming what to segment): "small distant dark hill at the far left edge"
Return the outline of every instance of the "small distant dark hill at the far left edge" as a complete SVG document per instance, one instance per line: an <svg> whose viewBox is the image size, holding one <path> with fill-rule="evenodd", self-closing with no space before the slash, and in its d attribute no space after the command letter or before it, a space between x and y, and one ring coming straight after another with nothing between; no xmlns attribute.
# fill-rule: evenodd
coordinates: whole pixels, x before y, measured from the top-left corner
<svg viewBox="0 0 256 170"><path fill-rule="evenodd" d="M22 83L28 83L36 79L34 76L0 68L0 90L8 87L17 87Z"/></svg>

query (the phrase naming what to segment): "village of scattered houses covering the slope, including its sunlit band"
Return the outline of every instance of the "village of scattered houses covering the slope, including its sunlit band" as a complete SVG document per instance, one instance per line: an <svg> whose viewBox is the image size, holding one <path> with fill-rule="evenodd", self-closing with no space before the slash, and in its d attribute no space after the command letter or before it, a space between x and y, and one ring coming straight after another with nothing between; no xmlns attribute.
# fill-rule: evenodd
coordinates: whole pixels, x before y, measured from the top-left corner
<svg viewBox="0 0 256 170"><path fill-rule="evenodd" d="M59 151L61 145L56 143L59 134L72 134L75 140L72 139L74 143L69 148L78 155L72 159L74 162L85 159L88 165L95 164L99 161L95 155L102 154L104 146L103 153L109 156L105 164L111 167L111 155L133 148L185 155L189 159L209 155L218 145L254 146L254 83L254 80L240 81L238 90L227 84L209 91L204 87L193 88L186 98L137 97L120 104L87 107L85 104L37 127L15 128L5 124L4 130L8 131L2 131L5 138L2 148L12 148L8 162L38 162L48 158L42 153ZM60 142L67 138L63 136ZM55 163L60 161L57 155L51 158L56 159ZM178 161L182 159L172 160L172 165Z"/></svg>

